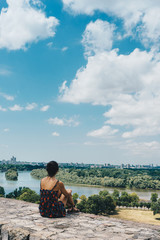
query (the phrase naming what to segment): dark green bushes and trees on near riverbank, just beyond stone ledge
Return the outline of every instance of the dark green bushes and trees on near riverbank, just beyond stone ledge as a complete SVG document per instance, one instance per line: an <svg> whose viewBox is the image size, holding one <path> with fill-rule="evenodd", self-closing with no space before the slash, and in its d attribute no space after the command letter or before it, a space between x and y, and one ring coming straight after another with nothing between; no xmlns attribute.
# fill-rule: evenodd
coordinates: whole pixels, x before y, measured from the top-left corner
<svg viewBox="0 0 160 240"><path fill-rule="evenodd" d="M5 196L5 192L2 187L0 187L0 196ZM152 194L152 202L142 202L139 200L136 193L128 194L127 192L122 192L120 195L117 190L114 190L112 194L109 194L107 190L103 190L100 191L98 195L91 195L88 198L85 195L82 195L80 200L78 200L78 194L73 194L73 200L81 212L103 215L113 214L116 210L116 206L151 208L153 214L155 215L160 212L160 199L154 202L155 197L156 195L154 196L154 194ZM7 194L6 198L14 198L32 203L39 203L40 200L39 194L26 187L15 189L13 192Z"/></svg>

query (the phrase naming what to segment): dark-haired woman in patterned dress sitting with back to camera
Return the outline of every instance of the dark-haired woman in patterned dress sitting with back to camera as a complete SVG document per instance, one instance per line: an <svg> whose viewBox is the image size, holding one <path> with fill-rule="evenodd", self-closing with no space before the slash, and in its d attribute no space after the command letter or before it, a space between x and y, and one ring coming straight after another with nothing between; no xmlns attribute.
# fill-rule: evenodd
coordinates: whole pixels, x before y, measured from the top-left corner
<svg viewBox="0 0 160 240"><path fill-rule="evenodd" d="M69 207L69 212L78 212L72 199L72 190L66 190L64 184L55 178L58 169L57 162L49 162L48 176L41 180L39 210L42 217L65 217L66 206Z"/></svg>

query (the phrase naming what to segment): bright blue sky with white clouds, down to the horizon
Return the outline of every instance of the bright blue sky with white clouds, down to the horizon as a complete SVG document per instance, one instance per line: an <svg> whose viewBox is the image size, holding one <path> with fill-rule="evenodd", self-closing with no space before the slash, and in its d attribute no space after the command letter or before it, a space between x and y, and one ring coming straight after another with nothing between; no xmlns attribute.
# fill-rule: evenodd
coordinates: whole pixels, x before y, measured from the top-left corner
<svg viewBox="0 0 160 240"><path fill-rule="evenodd" d="M0 2L0 159L159 164L160 3Z"/></svg>

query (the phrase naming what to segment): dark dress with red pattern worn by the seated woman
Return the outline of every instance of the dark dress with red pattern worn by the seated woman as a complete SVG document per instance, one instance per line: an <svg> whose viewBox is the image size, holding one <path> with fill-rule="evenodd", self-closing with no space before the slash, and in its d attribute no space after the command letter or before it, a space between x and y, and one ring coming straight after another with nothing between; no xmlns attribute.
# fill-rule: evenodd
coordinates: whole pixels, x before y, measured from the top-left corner
<svg viewBox="0 0 160 240"><path fill-rule="evenodd" d="M57 218L66 216L63 202L58 201L58 191L54 191L57 183L52 190L40 189L39 211L42 217Z"/></svg>

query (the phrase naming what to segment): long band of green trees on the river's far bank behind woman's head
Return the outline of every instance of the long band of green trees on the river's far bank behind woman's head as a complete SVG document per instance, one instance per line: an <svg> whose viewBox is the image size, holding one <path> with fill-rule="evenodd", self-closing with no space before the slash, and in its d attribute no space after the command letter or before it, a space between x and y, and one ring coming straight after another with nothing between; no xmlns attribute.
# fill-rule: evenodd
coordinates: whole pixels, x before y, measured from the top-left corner
<svg viewBox="0 0 160 240"><path fill-rule="evenodd" d="M47 172L36 169L31 175L41 179ZM64 183L160 190L160 170L69 168L60 169L56 177Z"/></svg>

